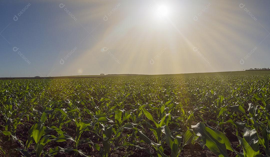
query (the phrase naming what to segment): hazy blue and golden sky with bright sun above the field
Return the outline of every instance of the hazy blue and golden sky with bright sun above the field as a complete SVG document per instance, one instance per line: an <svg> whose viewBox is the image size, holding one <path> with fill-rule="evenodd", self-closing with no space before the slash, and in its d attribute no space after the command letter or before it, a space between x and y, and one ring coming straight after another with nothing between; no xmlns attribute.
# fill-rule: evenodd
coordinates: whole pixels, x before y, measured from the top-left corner
<svg viewBox="0 0 270 157"><path fill-rule="evenodd" d="M0 77L270 68L270 1L1 0Z"/></svg>

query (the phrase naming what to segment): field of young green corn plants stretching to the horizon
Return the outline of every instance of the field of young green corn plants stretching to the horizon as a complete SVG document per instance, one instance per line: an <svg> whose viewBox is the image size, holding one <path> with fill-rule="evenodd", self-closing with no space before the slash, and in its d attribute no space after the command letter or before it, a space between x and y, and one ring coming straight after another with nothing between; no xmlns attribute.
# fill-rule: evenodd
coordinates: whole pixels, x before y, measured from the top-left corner
<svg viewBox="0 0 270 157"><path fill-rule="evenodd" d="M0 156L270 157L270 75L0 80Z"/></svg>

